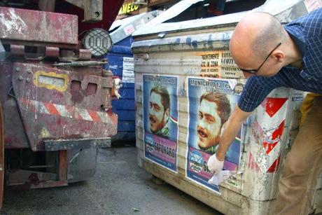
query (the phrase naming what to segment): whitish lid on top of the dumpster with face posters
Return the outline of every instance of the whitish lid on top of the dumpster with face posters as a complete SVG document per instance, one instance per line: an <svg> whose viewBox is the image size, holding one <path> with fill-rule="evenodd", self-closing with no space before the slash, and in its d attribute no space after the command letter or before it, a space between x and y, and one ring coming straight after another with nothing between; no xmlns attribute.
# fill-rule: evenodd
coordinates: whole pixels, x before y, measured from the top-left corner
<svg viewBox="0 0 322 215"><path fill-rule="evenodd" d="M200 1L204 0L185 0L179 1L178 4L175 4L167 11L159 15L157 18L148 22L144 28L138 29L132 36L143 36L147 34L157 34L160 32L178 32L182 30L193 30L207 27L214 27L219 25L231 25L239 22L239 20L250 11L244 11L239 13L230 13L227 15L219 15L211 18L202 18L196 20L188 20L183 22L167 22L183 11L186 11L193 4L197 4ZM296 11L291 10L293 6L304 2L302 0L289 0L289 1L279 1L279 0L267 0L262 6L253 9L252 11L260 11L270 13L272 15L281 15L279 20L281 22L290 22L294 18Z"/></svg>

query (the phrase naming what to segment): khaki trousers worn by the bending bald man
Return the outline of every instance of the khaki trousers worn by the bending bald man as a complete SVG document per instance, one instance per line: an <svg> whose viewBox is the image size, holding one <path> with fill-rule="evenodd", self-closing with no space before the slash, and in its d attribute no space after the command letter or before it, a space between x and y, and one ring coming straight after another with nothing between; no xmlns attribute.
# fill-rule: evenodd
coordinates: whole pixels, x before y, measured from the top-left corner
<svg viewBox="0 0 322 215"><path fill-rule="evenodd" d="M275 214L307 215L322 165L322 97L316 97L286 156Z"/></svg>

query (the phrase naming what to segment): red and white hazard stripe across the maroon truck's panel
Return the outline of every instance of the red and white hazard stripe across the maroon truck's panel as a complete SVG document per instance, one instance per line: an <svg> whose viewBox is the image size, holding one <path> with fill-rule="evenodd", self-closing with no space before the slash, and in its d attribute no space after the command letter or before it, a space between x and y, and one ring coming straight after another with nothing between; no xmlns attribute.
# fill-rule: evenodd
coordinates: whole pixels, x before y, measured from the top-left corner
<svg viewBox="0 0 322 215"><path fill-rule="evenodd" d="M52 104L49 102L39 102L20 98L22 109L33 111L36 113L44 113L48 115L62 116L66 118L76 118L78 120L87 120L101 123L112 123L111 118L106 112L93 111L90 109L79 109L75 106L66 106L61 104Z"/></svg>

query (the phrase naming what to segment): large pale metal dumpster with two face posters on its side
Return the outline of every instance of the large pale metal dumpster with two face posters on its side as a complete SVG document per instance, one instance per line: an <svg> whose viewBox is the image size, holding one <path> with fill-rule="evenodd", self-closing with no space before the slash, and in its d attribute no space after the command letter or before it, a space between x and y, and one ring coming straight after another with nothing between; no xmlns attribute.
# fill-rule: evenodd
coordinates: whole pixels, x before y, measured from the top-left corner
<svg viewBox="0 0 322 215"><path fill-rule="evenodd" d="M184 3L179 4L174 8ZM267 1L255 10L272 13L283 23L307 13L297 0ZM272 91L226 155L224 168L242 174L219 187L207 183L207 161L246 82L228 48L243 15L161 23L173 17L165 12L134 34L138 164L224 214L272 214L302 92ZM319 183L312 211L320 190Z"/></svg>

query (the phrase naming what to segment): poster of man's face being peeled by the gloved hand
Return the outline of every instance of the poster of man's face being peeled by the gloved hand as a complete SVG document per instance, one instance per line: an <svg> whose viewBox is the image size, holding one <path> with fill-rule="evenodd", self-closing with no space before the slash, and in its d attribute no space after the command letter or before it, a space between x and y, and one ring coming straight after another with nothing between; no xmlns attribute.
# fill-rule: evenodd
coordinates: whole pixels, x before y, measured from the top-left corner
<svg viewBox="0 0 322 215"><path fill-rule="evenodd" d="M226 122L235 108L238 95L235 80L188 78L188 148L186 176L219 192L207 183L212 174L207 162L216 153ZM240 156L240 132L225 157L224 169L237 170Z"/></svg>

